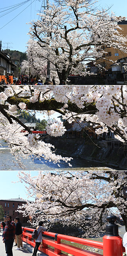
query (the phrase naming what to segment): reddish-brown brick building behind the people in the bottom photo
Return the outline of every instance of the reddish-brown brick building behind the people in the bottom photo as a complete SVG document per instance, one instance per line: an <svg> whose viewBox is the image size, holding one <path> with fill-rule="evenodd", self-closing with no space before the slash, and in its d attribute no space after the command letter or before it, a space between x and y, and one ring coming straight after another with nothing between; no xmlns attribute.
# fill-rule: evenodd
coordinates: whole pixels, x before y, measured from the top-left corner
<svg viewBox="0 0 127 256"><path fill-rule="evenodd" d="M29 201L31 202L31 201ZM22 213L15 212L19 206L22 206L22 204L26 204L27 202L21 198L11 198L11 199L1 199L0 200L0 205L2 205L4 209L4 215L11 215L12 219L16 216L20 218L20 221L22 224L27 223L27 221L30 219L29 216L23 217Z"/></svg>

